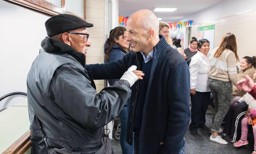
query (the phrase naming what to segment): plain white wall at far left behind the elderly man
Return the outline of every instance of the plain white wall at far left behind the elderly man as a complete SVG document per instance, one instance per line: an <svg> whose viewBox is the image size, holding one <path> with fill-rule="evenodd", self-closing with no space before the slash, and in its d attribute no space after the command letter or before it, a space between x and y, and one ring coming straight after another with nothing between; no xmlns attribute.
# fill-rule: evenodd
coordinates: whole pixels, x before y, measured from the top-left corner
<svg viewBox="0 0 256 154"><path fill-rule="evenodd" d="M0 97L16 91L27 92L27 74L39 54L41 40L47 35L48 18L0 0ZM24 98L5 98L0 102L0 110Z"/></svg>

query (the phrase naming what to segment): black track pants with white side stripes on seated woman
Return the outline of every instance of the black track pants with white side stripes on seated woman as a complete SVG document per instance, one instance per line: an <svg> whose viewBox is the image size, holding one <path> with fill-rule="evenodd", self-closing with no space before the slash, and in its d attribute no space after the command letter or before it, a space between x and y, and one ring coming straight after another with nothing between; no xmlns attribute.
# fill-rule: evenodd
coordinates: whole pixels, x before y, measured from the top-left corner
<svg viewBox="0 0 256 154"><path fill-rule="evenodd" d="M232 140L238 141L241 137L241 121L248 111L248 105L245 102L232 105L226 117L223 133L230 135Z"/></svg>

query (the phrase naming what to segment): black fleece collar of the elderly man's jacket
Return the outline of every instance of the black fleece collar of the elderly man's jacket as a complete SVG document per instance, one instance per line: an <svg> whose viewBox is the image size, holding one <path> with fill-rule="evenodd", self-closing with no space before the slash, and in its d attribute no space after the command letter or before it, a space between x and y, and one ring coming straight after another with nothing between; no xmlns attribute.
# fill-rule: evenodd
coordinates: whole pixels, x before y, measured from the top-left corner
<svg viewBox="0 0 256 154"><path fill-rule="evenodd" d="M41 47L48 53L55 54L64 54L67 53L73 58L75 58L83 67L85 65L85 56L83 53L76 52L71 46L68 44L57 40L52 37L45 37L41 42Z"/></svg>

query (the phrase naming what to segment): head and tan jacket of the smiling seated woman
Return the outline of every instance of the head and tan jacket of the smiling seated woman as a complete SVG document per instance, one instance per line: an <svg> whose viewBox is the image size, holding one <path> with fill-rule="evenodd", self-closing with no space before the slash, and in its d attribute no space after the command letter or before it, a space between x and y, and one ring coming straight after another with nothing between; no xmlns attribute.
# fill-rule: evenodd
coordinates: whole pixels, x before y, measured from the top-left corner
<svg viewBox="0 0 256 154"><path fill-rule="evenodd" d="M240 68L242 71L237 75L238 80L244 79L245 75L249 75L251 78L253 78L253 74L256 71L256 57L243 57L241 60ZM234 105L244 94L246 94L244 90L239 91L237 87L233 85L233 95L230 105Z"/></svg>

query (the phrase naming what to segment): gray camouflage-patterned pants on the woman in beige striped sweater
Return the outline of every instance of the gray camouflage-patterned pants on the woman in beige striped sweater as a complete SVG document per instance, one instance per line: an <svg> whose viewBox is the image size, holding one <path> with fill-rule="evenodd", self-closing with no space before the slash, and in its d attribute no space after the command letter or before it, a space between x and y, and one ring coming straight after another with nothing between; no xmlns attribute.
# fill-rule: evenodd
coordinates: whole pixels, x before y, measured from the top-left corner
<svg viewBox="0 0 256 154"><path fill-rule="evenodd" d="M214 111L212 115L212 127L214 132L219 131L219 127L223 118L227 114L232 98L232 84L231 82L221 81L209 78L209 88L214 98Z"/></svg>

